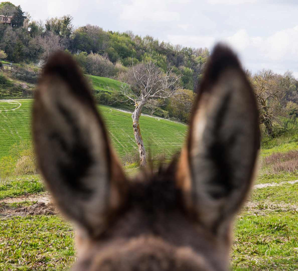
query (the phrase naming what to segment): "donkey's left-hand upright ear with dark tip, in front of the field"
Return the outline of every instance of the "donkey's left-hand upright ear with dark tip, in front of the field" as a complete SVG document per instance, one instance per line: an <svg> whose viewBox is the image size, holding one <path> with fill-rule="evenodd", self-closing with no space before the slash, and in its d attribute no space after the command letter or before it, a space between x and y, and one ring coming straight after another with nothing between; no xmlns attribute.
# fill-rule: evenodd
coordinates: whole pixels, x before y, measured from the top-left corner
<svg viewBox="0 0 298 271"><path fill-rule="evenodd" d="M104 214L123 203L127 182L83 74L65 53L49 59L39 81L33 135L56 203L90 234L99 234L108 223Z"/></svg>

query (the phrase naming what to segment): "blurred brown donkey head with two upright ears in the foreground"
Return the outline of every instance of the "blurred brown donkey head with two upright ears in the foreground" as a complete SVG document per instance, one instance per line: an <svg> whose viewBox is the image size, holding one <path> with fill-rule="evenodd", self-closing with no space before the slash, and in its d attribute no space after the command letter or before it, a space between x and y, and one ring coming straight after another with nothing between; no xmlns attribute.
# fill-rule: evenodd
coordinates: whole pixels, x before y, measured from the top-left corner
<svg viewBox="0 0 298 271"><path fill-rule="evenodd" d="M73 271L219 271L260 147L254 94L237 56L217 45L198 87L187 143L158 172L128 179L83 74L49 58L33 107L38 165L77 228Z"/></svg>

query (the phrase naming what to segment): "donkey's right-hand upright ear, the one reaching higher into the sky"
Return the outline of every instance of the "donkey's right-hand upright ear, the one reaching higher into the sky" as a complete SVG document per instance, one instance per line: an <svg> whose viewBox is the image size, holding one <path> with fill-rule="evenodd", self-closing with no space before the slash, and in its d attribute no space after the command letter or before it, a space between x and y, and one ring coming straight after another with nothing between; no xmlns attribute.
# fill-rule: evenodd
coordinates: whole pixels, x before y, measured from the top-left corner
<svg viewBox="0 0 298 271"><path fill-rule="evenodd" d="M179 169L187 208L212 232L226 232L246 199L259 147L252 88L237 57L218 45L198 89Z"/></svg>

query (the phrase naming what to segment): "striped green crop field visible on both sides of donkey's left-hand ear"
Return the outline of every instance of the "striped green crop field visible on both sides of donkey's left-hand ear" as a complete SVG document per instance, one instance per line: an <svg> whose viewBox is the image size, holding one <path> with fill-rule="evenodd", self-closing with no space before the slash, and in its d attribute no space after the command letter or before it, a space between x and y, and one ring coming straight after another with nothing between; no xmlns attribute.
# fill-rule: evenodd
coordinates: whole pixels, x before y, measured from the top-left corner
<svg viewBox="0 0 298 271"><path fill-rule="evenodd" d="M21 106L17 108L19 103ZM14 143L31 139L32 103L32 99L0 100L0 157L9 155ZM118 155L137 151L131 114L108 106L100 106L99 110ZM187 130L187 126L181 123L149 116L140 117L140 127L145 146L153 154L161 151L173 153L183 145Z"/></svg>

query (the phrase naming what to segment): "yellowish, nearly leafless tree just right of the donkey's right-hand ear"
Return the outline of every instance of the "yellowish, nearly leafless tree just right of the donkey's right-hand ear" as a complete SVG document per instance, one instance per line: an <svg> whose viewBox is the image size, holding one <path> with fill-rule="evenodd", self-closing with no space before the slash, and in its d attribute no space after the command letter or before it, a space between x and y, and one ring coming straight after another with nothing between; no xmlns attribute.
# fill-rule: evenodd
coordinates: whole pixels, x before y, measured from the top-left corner
<svg viewBox="0 0 298 271"><path fill-rule="evenodd" d="M277 76L271 69L263 69L254 75L253 83L259 105L260 124L264 124L269 136L272 134L273 122L283 113Z"/></svg>

